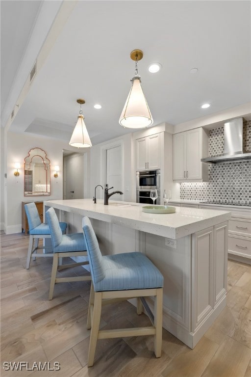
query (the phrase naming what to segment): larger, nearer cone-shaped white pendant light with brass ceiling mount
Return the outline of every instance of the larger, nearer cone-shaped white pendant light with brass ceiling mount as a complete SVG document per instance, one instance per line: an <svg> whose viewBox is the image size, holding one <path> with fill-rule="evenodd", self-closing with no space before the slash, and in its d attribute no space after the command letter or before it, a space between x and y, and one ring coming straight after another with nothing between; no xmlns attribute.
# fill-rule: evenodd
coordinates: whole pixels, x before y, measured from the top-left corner
<svg viewBox="0 0 251 377"><path fill-rule="evenodd" d="M119 123L125 128L146 128L151 126L153 119L141 87L141 77L138 75L138 60L142 59L143 52L133 50L130 57L135 61L135 76L131 80L132 86Z"/></svg>

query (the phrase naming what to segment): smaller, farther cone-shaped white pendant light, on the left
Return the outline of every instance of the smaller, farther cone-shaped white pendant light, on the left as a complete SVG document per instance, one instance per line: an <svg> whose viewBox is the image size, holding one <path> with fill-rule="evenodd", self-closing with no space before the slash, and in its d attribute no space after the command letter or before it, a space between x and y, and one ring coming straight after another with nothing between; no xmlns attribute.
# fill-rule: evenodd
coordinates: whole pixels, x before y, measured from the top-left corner
<svg viewBox="0 0 251 377"><path fill-rule="evenodd" d="M76 100L76 102L80 104L80 111L69 144L77 148L88 148L92 146L92 143L84 124L84 117L82 115L82 105L85 104L85 100L79 98L78 100Z"/></svg>

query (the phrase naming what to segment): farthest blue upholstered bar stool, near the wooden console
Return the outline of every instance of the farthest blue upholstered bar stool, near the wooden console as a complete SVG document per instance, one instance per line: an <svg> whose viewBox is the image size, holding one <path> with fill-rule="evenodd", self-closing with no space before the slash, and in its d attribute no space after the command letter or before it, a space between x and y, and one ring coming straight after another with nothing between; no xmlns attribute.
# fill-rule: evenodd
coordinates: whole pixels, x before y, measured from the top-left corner
<svg viewBox="0 0 251 377"><path fill-rule="evenodd" d="M27 216L28 224L29 224L29 246L28 246L28 255L27 255L27 262L26 262L26 269L29 269L31 257L34 257L34 259L36 257L52 257L53 253L38 253L37 252L37 250L45 249L45 247L38 247L39 239L50 238L51 236L50 236L49 225L44 222L41 222L35 203L26 203L25 213ZM67 223L60 222L60 228L62 230L62 233L65 234Z"/></svg>

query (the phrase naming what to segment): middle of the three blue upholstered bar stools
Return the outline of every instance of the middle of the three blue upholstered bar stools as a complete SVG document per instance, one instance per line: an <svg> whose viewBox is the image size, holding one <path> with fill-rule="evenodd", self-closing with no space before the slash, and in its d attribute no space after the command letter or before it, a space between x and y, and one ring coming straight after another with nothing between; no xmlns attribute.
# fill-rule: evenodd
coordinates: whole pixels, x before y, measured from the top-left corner
<svg viewBox="0 0 251 377"><path fill-rule="evenodd" d="M50 207L46 211L46 217L50 227L53 264L50 279L49 300L52 299L55 283L63 283L69 281L90 281L91 275L87 276L70 276L56 277L57 270L68 269L75 266L83 266L89 264L89 261L71 263L69 265L58 266L59 258L64 257L82 257L87 255L83 233L62 234L57 215L54 208Z"/></svg>

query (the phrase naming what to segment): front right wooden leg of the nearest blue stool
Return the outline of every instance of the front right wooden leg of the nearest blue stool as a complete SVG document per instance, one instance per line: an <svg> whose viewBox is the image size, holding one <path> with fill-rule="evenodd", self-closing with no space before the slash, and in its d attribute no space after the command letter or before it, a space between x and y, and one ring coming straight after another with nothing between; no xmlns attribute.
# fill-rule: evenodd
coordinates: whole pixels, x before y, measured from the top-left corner
<svg viewBox="0 0 251 377"><path fill-rule="evenodd" d="M161 356L162 348L162 301L163 301L163 288L156 290L154 302L154 326L156 334L154 335L154 353L156 357Z"/></svg>

